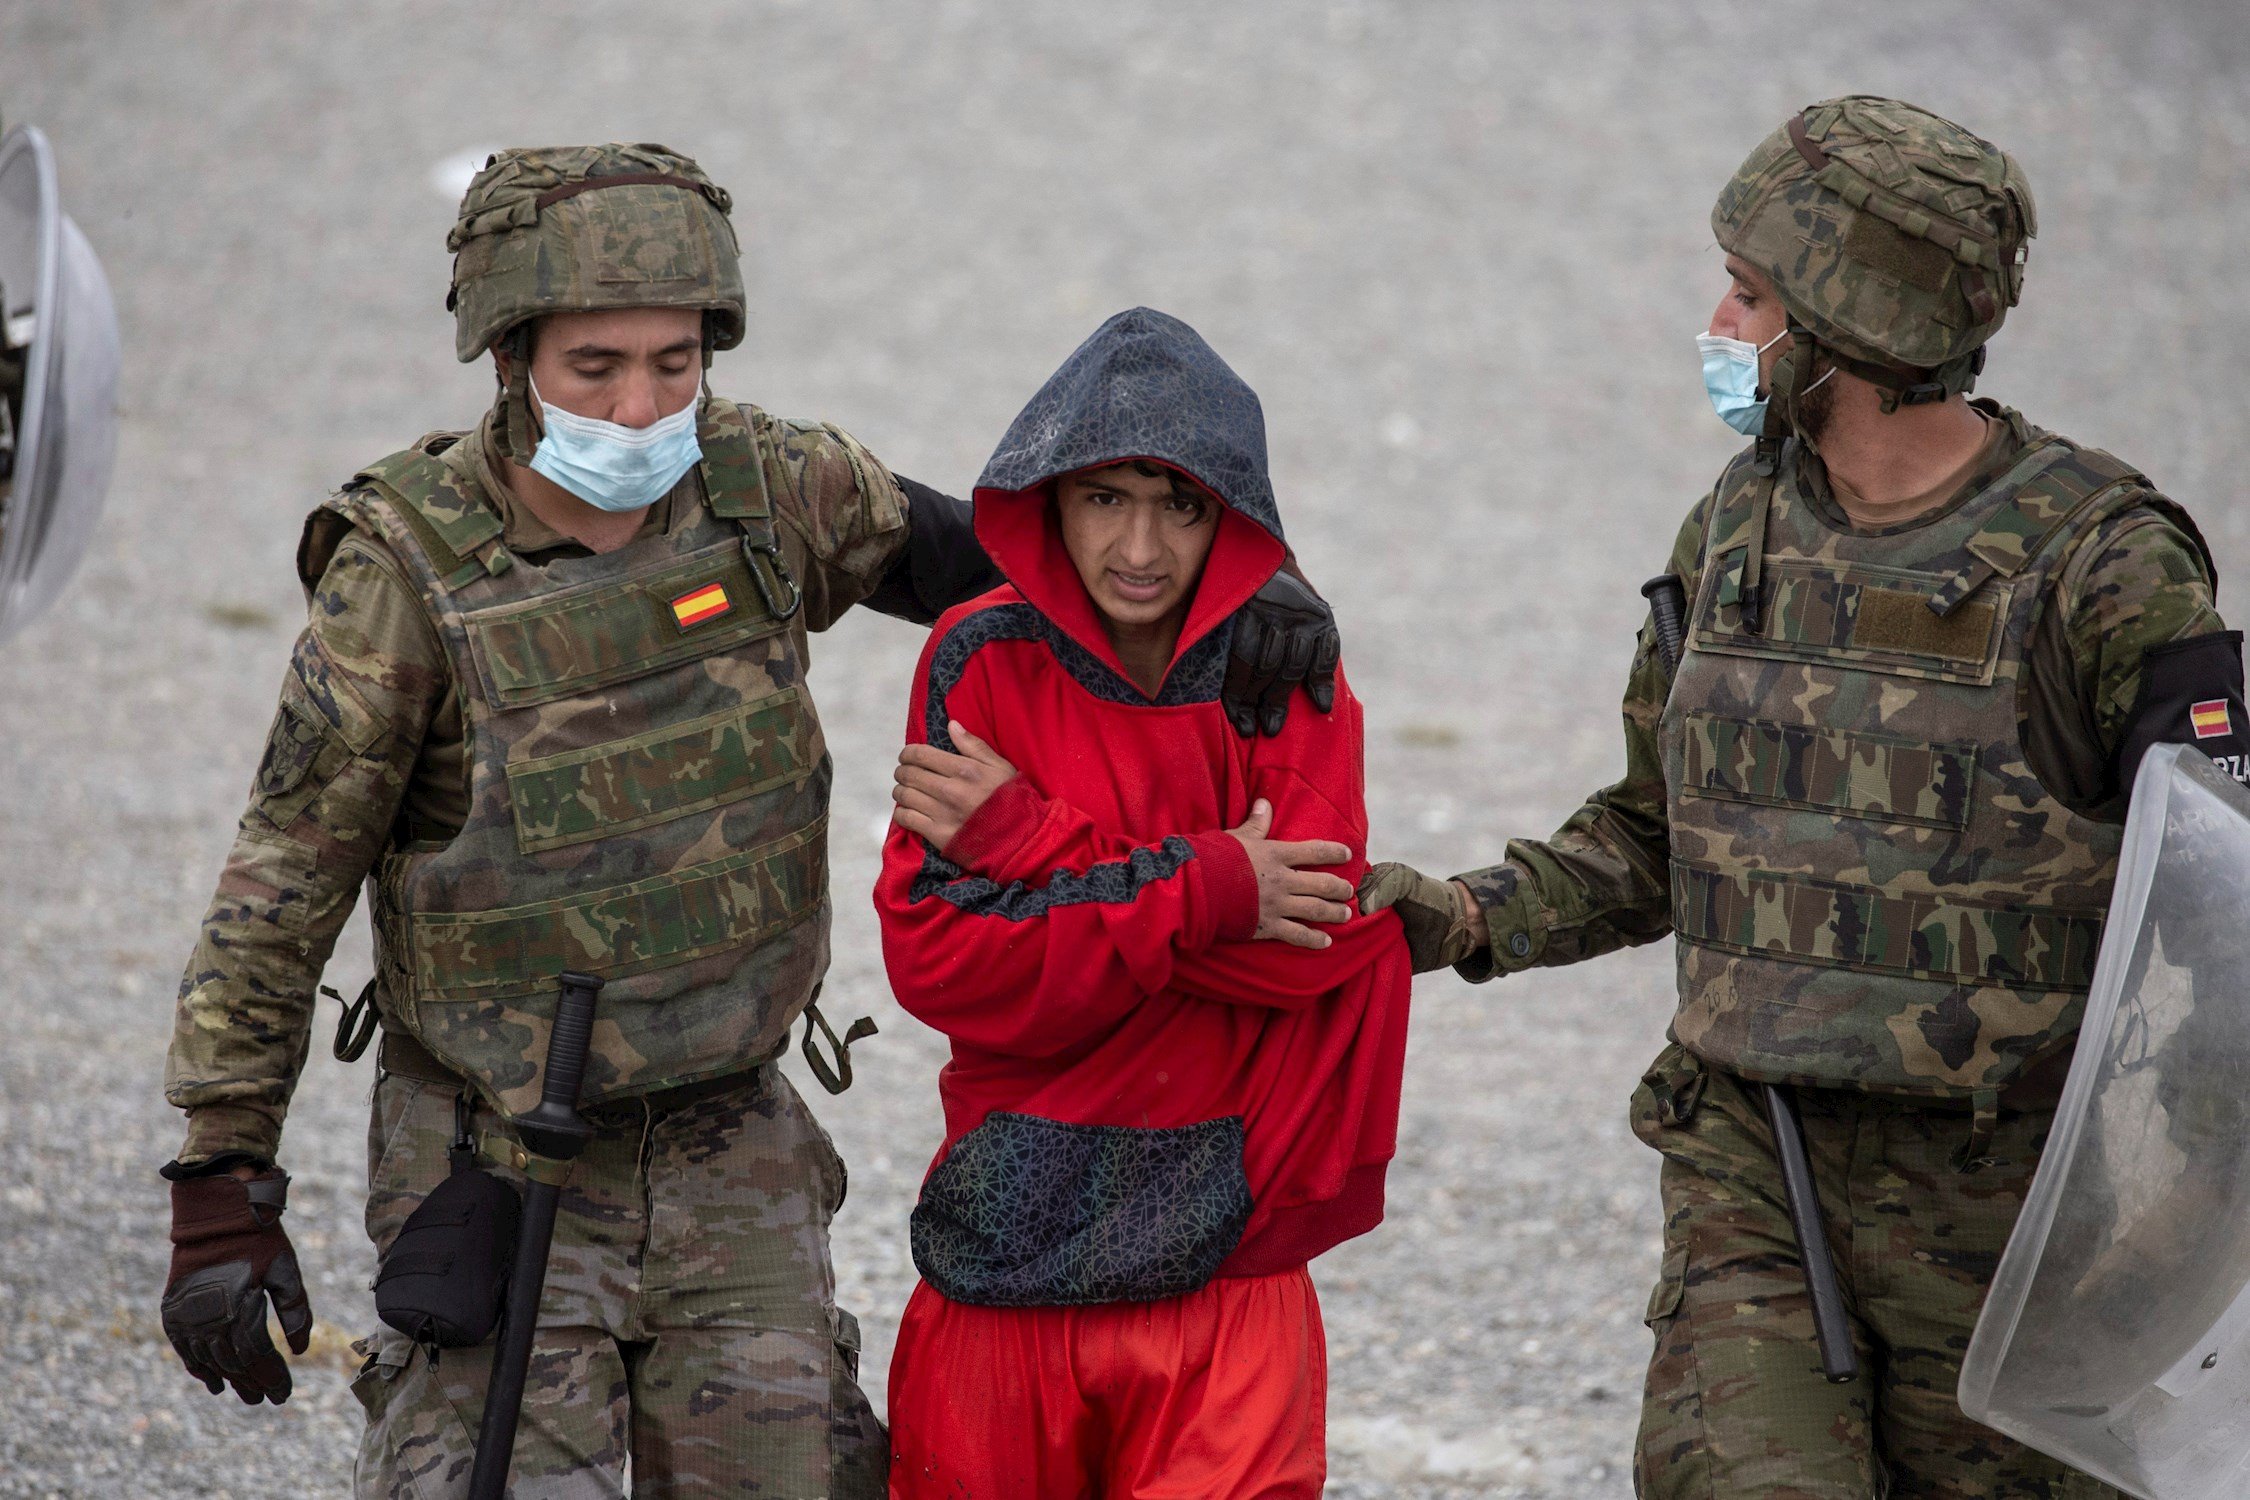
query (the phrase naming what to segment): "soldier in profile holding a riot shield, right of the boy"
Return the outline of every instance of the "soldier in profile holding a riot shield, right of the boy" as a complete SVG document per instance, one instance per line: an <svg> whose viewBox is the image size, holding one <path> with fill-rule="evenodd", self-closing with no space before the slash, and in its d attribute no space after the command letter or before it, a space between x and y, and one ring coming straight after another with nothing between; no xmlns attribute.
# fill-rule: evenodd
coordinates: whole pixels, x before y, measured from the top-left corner
<svg viewBox="0 0 2250 1500"><path fill-rule="evenodd" d="M2241 636L2131 466L1969 400L2036 229L2016 162L1872 97L1719 196L1701 340L1757 441L1688 515L1624 778L1454 882L1382 866L1472 981L1678 938L1642 1496L2099 1496L1971 1424L1960 1358L2077 1039L2140 753L2241 751ZM2200 740L2198 740L2200 735ZM2239 760L2232 765L2241 765ZM1760 1084L1796 1086L1863 1376L1822 1379Z"/></svg>

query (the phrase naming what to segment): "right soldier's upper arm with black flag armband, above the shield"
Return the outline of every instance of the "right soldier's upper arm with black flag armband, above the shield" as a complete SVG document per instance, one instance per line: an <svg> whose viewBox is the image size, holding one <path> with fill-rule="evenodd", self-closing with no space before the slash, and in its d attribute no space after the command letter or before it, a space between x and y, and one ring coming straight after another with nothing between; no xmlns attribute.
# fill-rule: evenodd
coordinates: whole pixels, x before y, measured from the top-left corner
<svg viewBox="0 0 2250 1500"><path fill-rule="evenodd" d="M2077 758L2099 767L2099 801L2122 814L2151 744L2194 744L2241 780L2241 632L2218 616L2200 537L2164 506L2124 510L2066 562L2063 596L2077 704L2052 717L2090 740Z"/></svg>

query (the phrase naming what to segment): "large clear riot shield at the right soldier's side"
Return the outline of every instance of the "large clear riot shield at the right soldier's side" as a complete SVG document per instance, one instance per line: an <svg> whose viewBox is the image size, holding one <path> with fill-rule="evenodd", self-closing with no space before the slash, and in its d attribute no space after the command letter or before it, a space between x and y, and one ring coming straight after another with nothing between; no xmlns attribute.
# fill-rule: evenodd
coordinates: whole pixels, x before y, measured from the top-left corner
<svg viewBox="0 0 2250 1500"><path fill-rule="evenodd" d="M2160 744L1973 1419L2144 1500L2250 1496L2250 792Z"/></svg>

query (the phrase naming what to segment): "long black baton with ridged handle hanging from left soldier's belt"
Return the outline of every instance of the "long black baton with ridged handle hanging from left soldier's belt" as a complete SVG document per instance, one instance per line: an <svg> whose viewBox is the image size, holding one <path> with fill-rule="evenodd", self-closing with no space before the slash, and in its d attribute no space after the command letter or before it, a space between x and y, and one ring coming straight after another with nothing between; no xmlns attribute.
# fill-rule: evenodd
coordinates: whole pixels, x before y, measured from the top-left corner
<svg viewBox="0 0 2250 1500"><path fill-rule="evenodd" d="M524 1408L524 1374L531 1370L531 1334L540 1322L540 1293L547 1291L547 1250L556 1235L556 1205L562 1201L562 1174L540 1172L538 1158L560 1165L576 1160L594 1127L578 1115L578 1082L585 1077L585 1052L594 1037L594 992L601 981L590 974L565 974L556 1001L556 1023L547 1034L547 1077L538 1106L515 1120L524 1151L533 1156L524 1181L524 1223L515 1237L515 1264L508 1268L508 1307L500 1320L500 1347L493 1352L493 1376L484 1388L484 1421L477 1426L477 1466L468 1473L470 1500L500 1500L508 1487L508 1460L515 1457L515 1421Z"/></svg>

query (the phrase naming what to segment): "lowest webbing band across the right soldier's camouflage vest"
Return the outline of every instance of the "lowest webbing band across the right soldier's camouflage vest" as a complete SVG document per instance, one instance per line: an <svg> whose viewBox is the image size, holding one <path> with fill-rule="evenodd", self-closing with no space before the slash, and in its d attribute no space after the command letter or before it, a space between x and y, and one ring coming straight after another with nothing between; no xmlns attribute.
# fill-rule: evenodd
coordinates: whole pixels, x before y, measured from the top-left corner
<svg viewBox="0 0 2250 1500"><path fill-rule="evenodd" d="M1672 864L1672 927L1735 954L1960 985L2088 990L2099 913L1904 895L1874 886Z"/></svg>

